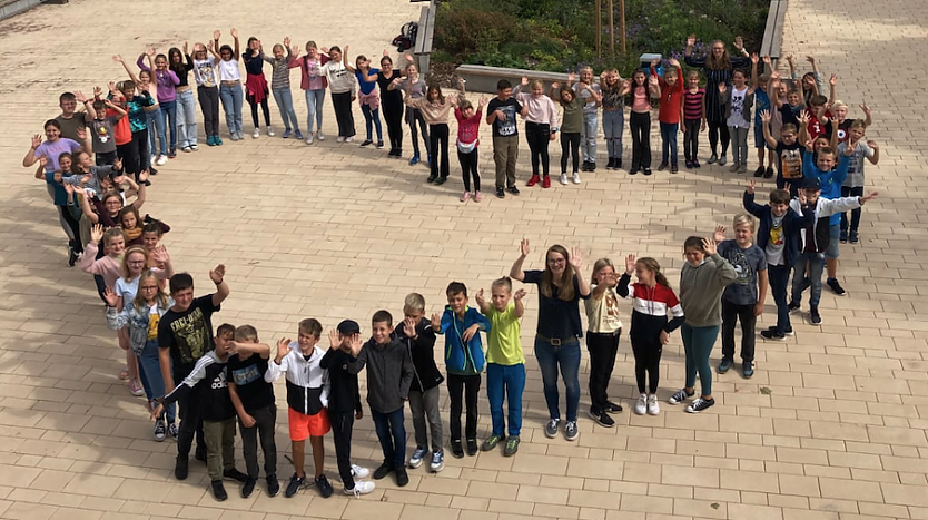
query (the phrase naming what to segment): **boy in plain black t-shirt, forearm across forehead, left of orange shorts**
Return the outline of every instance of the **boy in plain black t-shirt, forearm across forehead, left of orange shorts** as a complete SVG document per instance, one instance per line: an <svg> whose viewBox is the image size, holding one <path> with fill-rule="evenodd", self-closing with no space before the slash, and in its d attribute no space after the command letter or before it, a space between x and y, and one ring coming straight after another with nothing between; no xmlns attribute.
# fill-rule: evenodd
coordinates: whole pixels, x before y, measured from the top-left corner
<svg viewBox="0 0 928 520"><path fill-rule="evenodd" d="M267 360L272 349L258 343L258 331L251 325L235 330L231 342L235 354L228 360L228 386L235 413L238 415L238 432L241 434L241 457L248 480L241 487L241 498L247 499L258 481L258 436L264 453L264 474L268 497L277 496L277 444L274 442L274 426L277 424L277 405L274 404L274 385L265 381Z"/></svg>

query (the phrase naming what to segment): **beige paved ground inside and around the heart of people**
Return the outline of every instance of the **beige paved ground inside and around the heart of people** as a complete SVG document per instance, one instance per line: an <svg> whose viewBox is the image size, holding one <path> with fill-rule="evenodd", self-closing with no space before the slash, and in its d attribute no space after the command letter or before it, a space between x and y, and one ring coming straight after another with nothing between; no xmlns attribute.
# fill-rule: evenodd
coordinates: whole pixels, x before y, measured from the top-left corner
<svg viewBox="0 0 928 520"><path fill-rule="evenodd" d="M230 499L217 504L199 463L187 481L174 480L174 442L151 441L144 401L117 379L121 351L103 325L90 277L67 267L45 187L19 165L29 136L57 114L60 91L89 91L120 77L113 52L128 57L150 43L203 41L219 23L265 42L288 33L297 42L347 42L353 53L369 55L417 6L166 0L127 8L83 0L0 23L0 517L928 518L928 264L921 258L928 251L921 104L928 71L920 59L928 7L900 0L790 3L786 50L815 53L826 73L839 75L841 99L873 107L869 137L883 157L879 167L868 166L867 177L881 197L866 207L861 244L841 251L849 296L823 295L821 328L798 323L789 342L760 343L751 381L734 371L717 376L715 408L698 416L669 405L656 418L626 411L612 430L581 418L576 442L547 440L540 373L530 356L525 442L515 458L448 458L438 475L413 470L407 488L385 480L361 500L325 500L312 490L289 500L263 492L243 500L230 485ZM273 117L279 120L276 111ZM245 120L247 130L247 111ZM359 110L356 121L361 129ZM335 134L328 100L325 128ZM487 130L482 163L490 188ZM675 285L683 238L730 222L742 190L742 179L715 168L633 179L601 169L579 187L555 183L519 198L462 205L454 159L452 181L434 187L424 183L424 167L333 139L313 147L266 137L226 143L165 166L145 209L174 227L165 244L201 291L211 266L228 266L233 294L216 324L250 323L267 341L293 336L296 323L310 316L326 327L345 317L367 327L377 308L399 314L411 291L438 311L451 279L488 287L505 273L522 236L534 246L527 267L541 267L543 249L562 243L582 248L585 272L604 255L656 256ZM527 167L525 149L523 181ZM523 343L530 345L537 303L534 295L526 302ZM770 301L762 325L772 320ZM665 399L682 383L679 336L664 351L663 371ZM586 374L584 354L584 387ZM631 398L633 384L623 337L611 392ZM481 408L483 435L490 418L485 401ZM289 450L283 421L277 441L282 453ZM329 478L337 480L330 441L326 449ZM355 429L354 455L372 467L378 453L365 418ZM279 474L289 474L283 459Z"/></svg>

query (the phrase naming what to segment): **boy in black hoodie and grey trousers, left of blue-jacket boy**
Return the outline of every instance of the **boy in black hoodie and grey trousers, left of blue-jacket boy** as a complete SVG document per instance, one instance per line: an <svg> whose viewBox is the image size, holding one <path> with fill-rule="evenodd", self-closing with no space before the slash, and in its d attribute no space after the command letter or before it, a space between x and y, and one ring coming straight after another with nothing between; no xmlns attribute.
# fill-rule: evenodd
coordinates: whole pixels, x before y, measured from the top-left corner
<svg viewBox="0 0 928 520"><path fill-rule="evenodd" d="M406 296L403 305L406 318L396 327L396 339L406 346L413 360L413 383L409 386L409 411L413 414L416 451L409 458L409 468L418 468L428 454L428 429L432 431L432 464L435 473L445 468L445 452L442 449L442 413L440 385L445 380L435 365L435 332L432 322L425 317L425 298L418 293Z"/></svg>

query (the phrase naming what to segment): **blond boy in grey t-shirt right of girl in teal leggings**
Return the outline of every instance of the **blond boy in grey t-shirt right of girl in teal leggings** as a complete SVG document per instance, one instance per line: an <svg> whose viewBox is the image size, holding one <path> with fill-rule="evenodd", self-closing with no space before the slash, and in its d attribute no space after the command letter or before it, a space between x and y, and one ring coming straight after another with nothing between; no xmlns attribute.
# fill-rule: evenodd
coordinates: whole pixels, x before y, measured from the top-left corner
<svg viewBox="0 0 928 520"><path fill-rule="evenodd" d="M734 267L738 277L722 293L722 361L724 374L734 363L734 324L741 322L741 370L744 379L754 375L754 326L767 298L767 255L753 243L754 218L734 216L734 239L719 242L719 255ZM724 228L721 228L724 234Z"/></svg>

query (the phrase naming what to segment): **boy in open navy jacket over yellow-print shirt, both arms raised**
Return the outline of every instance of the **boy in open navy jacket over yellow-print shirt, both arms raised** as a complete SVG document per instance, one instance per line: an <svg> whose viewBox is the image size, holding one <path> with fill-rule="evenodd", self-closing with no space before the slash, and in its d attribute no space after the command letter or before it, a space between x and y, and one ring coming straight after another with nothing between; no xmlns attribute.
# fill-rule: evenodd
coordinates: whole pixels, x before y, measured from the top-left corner
<svg viewBox="0 0 928 520"><path fill-rule="evenodd" d="M761 206L754 203L753 180L744 190L744 209L760 220L757 245L767 255L767 277L777 302L777 325L760 332L764 340L786 341L787 335L792 335L787 302L789 272L799 254L799 229L810 226L815 219L815 212L808 210L804 200L800 205L801 214L791 210L790 198L789 190L774 189L770 192L770 204Z"/></svg>

